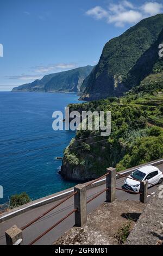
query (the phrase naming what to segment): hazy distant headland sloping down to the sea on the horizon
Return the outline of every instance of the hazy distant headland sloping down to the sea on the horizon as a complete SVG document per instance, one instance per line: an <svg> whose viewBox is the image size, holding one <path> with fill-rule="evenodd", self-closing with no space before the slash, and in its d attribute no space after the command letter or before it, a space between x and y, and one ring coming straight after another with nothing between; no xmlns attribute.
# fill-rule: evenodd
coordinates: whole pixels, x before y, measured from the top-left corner
<svg viewBox="0 0 163 256"><path fill-rule="evenodd" d="M12 89L12 92L80 92L84 79L93 66L84 66L64 72L44 76L32 83L26 83Z"/></svg>

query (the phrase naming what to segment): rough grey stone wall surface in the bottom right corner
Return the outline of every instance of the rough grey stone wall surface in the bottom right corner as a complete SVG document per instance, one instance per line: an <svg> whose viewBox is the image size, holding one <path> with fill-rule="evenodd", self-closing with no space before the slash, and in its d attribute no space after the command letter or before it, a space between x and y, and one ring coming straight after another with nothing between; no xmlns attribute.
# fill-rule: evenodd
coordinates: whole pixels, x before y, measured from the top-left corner
<svg viewBox="0 0 163 256"><path fill-rule="evenodd" d="M161 196L163 197L163 192L156 190L130 232L126 245L163 245L163 198Z"/></svg>

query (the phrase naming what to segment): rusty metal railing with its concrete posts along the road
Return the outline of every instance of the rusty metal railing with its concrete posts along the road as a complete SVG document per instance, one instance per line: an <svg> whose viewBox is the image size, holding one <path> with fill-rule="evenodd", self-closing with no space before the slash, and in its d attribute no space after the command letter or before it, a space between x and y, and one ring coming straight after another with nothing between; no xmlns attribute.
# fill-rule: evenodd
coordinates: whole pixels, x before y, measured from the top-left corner
<svg viewBox="0 0 163 256"><path fill-rule="evenodd" d="M28 228L30 225L35 223L37 220L39 220L40 218L42 218L43 216L48 214L48 212L51 212L52 210L57 208L62 203L66 202L71 197L74 197L74 209L71 212L69 212L65 217L61 218L61 220L59 220L57 223L52 225L51 228L47 229L45 232L43 232L42 234L37 236L32 242L29 243L29 245L33 245L36 241L41 239L42 236L46 235L49 231L51 231L52 229L57 227L57 225L59 225L62 221L66 220L66 218L68 218L72 214L74 214L75 225L77 227L82 227L87 221L87 204L89 204L92 200L94 200L95 198L97 198L98 196L100 196L104 192L106 193L106 202L108 202L108 203L114 202L114 200L116 199L116 190L121 190L121 191L131 192L131 193L134 193L134 194L139 194L140 195L140 202L142 202L142 203L147 202L147 195L152 196L152 194L147 193L148 181L137 180L137 181L140 182L140 191L135 192L135 191L125 190L123 188L116 187L116 177L117 177L117 175L121 176L121 178L129 178L129 179L132 179L132 180L136 180L136 179L130 178L126 175L116 173L115 168L110 167L110 168L106 169L106 174L99 177L98 179L90 181L87 184L76 185L74 187L74 192L72 194L70 194L70 196L61 200L61 202L54 205L49 210L45 211L42 215L36 217L33 221L24 225L24 227L22 227L21 229L16 227L16 225L14 225L10 229L8 229L5 232L7 245L20 245L20 244L22 244L23 243L22 231L24 229ZM89 186L91 186L92 184L95 184L97 181L99 181L103 178L106 178L105 179L106 188L104 190L102 190L101 192L97 193L95 196L93 196L89 200L87 200L87 197L86 197L87 188ZM153 184L151 184L151 185L153 185ZM155 186L157 186L157 185L155 185ZM19 242L17 242L17 241L19 241Z"/></svg>

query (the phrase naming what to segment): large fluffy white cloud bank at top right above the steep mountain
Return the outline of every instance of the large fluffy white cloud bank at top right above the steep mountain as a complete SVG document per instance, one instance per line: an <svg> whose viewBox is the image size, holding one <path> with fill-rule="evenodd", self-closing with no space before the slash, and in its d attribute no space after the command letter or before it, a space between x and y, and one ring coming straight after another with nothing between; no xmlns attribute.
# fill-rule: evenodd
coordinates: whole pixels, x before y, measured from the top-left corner
<svg viewBox="0 0 163 256"><path fill-rule="evenodd" d="M124 0L117 4L110 4L108 8L96 6L86 11L86 15L96 20L105 20L114 23L115 26L123 27L126 24L133 25L145 17L156 15L162 12L163 5L157 2L145 2L140 6Z"/></svg>

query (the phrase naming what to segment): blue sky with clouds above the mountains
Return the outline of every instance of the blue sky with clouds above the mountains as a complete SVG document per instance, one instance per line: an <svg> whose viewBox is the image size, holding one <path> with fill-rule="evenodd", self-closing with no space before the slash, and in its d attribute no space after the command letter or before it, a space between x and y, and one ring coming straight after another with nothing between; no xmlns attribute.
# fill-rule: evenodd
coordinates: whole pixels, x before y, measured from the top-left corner
<svg viewBox="0 0 163 256"><path fill-rule="evenodd" d="M107 41L158 13L163 0L1 0L0 91L96 65Z"/></svg>

